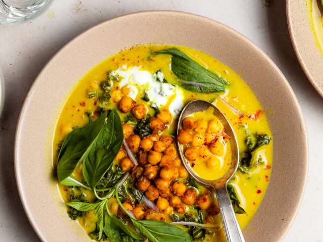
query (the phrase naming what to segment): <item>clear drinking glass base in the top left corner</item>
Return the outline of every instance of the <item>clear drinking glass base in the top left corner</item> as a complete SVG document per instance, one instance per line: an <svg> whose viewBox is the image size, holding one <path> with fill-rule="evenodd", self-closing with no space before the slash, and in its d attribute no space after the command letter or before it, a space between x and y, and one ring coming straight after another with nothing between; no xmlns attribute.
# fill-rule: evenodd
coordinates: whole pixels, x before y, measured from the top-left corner
<svg viewBox="0 0 323 242"><path fill-rule="evenodd" d="M52 0L0 0L0 24L15 24L43 13Z"/></svg>

